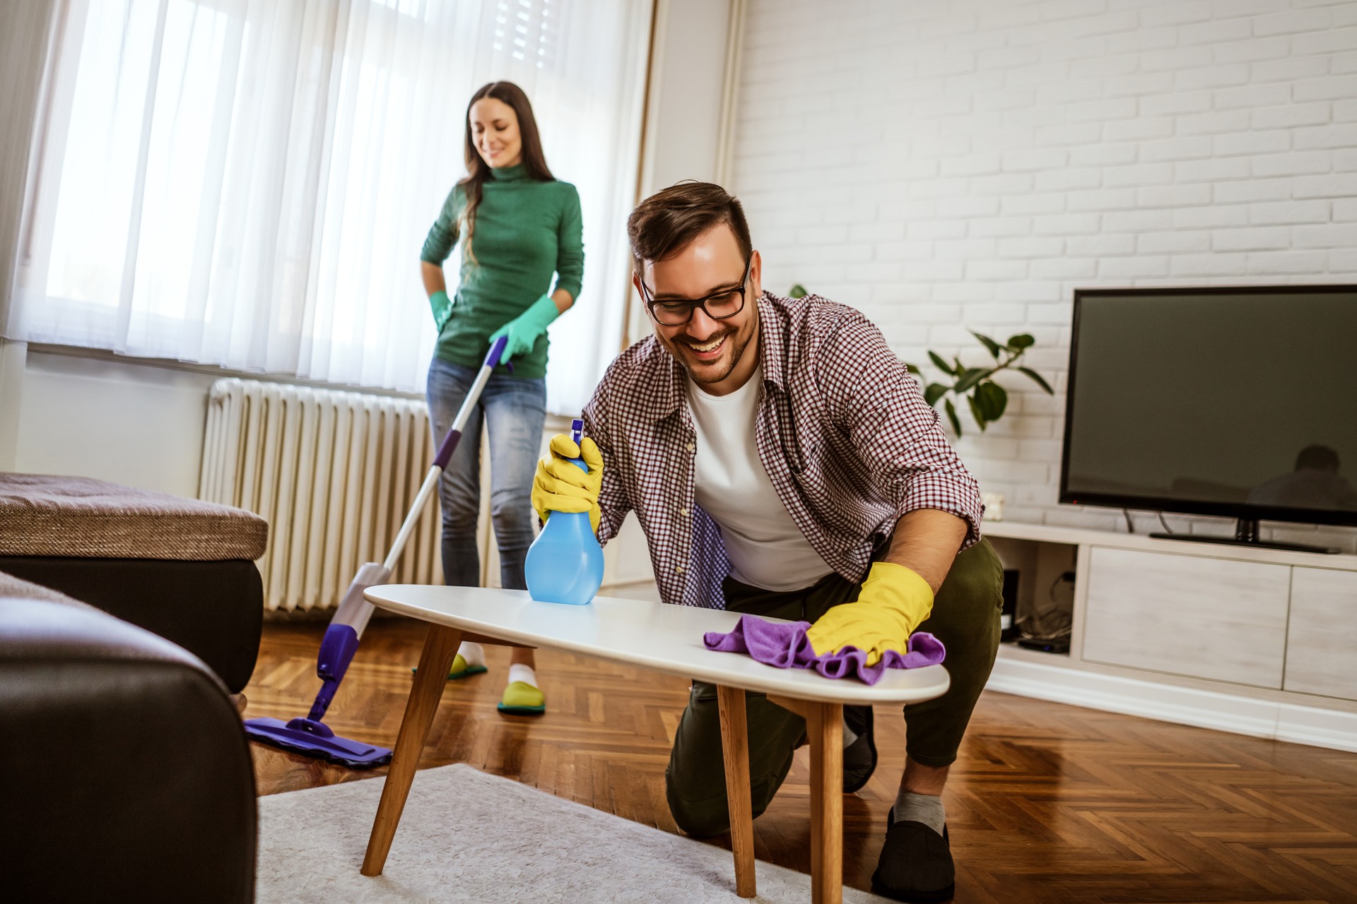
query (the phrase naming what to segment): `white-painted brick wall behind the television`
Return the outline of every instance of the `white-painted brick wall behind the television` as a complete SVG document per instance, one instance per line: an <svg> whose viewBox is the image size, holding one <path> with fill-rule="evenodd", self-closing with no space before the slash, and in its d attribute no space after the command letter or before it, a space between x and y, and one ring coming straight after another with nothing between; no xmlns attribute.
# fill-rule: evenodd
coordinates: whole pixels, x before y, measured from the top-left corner
<svg viewBox="0 0 1357 904"><path fill-rule="evenodd" d="M1056 504L1076 286L1357 282L1357 1L750 0L742 66L731 190L769 289L916 363L1037 337L1057 396L1001 379L958 443L1010 520L1124 530Z"/></svg>

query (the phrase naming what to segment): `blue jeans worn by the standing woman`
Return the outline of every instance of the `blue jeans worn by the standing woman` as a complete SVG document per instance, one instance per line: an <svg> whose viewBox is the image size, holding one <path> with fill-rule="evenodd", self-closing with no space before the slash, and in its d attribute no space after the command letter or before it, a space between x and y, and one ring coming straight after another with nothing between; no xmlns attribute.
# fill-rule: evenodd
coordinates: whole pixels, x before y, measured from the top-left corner
<svg viewBox="0 0 1357 904"><path fill-rule="evenodd" d="M471 390L479 369L441 358L429 366L429 420L437 447ZM480 585L476 516L480 512L480 430L490 431L490 519L499 545L499 581L527 590L522 562L537 516L532 511L532 476L547 422L547 381L491 374L461 442L438 480L442 503L442 579L453 587Z"/></svg>

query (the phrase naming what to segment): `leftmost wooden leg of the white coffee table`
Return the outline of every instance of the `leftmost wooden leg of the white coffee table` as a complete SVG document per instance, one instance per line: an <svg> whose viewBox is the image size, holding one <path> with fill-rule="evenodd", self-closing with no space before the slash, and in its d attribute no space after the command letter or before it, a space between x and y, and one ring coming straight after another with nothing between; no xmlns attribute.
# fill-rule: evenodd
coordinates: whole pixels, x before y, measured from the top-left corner
<svg viewBox="0 0 1357 904"><path fill-rule="evenodd" d="M387 770L387 783L381 789L381 802L377 804L377 819L372 823L368 838L368 852L362 858L364 876L381 876L391 852L391 839L396 835L400 813L406 808L410 783L423 752L423 741L429 725L438 712L438 698L448 682L448 670L461 644L461 632L456 628L429 625L425 648L419 655L419 668L415 671L414 686L406 701L406 714L400 720L400 733L391 754L391 768Z"/></svg>

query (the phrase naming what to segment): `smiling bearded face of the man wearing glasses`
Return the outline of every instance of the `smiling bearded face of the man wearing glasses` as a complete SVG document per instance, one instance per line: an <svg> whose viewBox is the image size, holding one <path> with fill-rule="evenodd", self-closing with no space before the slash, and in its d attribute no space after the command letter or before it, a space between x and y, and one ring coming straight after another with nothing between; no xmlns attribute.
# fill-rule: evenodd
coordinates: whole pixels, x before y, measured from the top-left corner
<svg viewBox="0 0 1357 904"><path fill-rule="evenodd" d="M748 263L748 278L745 267ZM707 308L719 313L738 304L738 289L745 290L744 308L730 317L716 319L702 308L692 308L692 317L681 325L665 325L651 312L655 339L687 369L693 382L712 396L740 389L759 363L759 252L746 262L740 241L726 224L716 224L688 243L678 253L658 262L645 262L636 289L642 298L665 302L707 300ZM681 305L672 304L680 310ZM673 316L662 316L673 320ZM680 317L681 319L681 317Z"/></svg>

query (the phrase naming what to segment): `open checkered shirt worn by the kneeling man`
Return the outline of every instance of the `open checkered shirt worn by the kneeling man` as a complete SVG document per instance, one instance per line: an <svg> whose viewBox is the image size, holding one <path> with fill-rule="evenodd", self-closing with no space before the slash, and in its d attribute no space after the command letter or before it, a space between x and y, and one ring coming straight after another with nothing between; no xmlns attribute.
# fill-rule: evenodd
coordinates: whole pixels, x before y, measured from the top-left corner
<svg viewBox="0 0 1357 904"><path fill-rule="evenodd" d="M938 508L980 539L980 487L905 365L860 312L818 295L759 298L763 392L754 436L778 497L837 573L866 577L896 522ZM654 336L608 367L585 408L603 453L598 539L635 511L666 603L725 609L721 529L695 501L687 373Z"/></svg>

